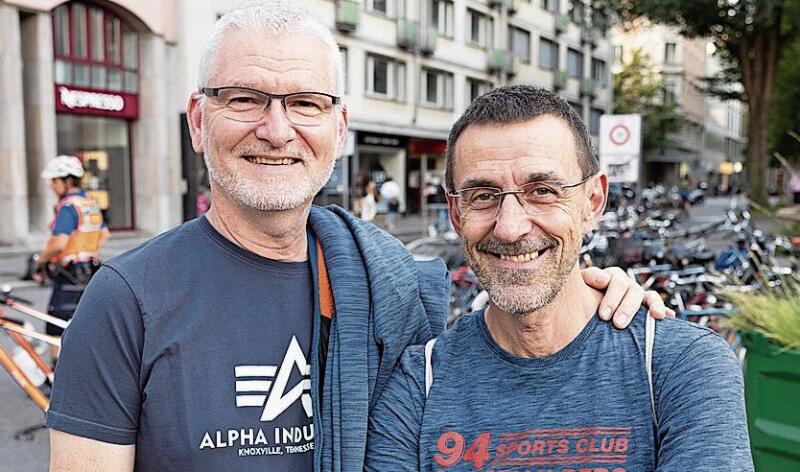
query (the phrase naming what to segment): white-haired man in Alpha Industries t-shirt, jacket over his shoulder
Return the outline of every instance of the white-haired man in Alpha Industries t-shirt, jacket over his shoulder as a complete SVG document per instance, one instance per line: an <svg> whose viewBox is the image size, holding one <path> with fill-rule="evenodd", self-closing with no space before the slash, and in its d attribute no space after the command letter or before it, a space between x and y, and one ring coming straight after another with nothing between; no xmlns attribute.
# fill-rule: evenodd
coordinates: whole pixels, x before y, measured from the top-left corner
<svg viewBox="0 0 800 472"><path fill-rule="evenodd" d="M343 71L331 32L289 0L214 26L187 110L213 203L87 288L47 415L52 470L363 469L375 395L444 330L449 281L312 205L347 136ZM606 319L630 320L644 291L605 275Z"/></svg>

